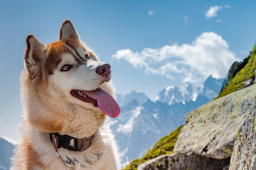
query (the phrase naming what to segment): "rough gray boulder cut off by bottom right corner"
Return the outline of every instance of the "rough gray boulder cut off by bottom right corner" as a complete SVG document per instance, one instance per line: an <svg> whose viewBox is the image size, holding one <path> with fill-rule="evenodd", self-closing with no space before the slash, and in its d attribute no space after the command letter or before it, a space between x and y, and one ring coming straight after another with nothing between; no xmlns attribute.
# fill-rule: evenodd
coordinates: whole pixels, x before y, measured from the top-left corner
<svg viewBox="0 0 256 170"><path fill-rule="evenodd" d="M237 133L229 169L256 170L256 98L252 112Z"/></svg>

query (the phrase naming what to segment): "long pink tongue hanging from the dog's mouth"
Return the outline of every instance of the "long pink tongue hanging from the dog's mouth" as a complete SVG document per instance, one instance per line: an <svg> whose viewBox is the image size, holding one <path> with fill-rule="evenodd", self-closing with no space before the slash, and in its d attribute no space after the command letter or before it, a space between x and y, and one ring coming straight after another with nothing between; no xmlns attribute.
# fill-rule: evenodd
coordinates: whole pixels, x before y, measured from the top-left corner
<svg viewBox="0 0 256 170"><path fill-rule="evenodd" d="M98 88L94 91L85 91L86 95L97 100L99 109L108 116L115 118L120 113L120 107L115 99L105 90Z"/></svg>

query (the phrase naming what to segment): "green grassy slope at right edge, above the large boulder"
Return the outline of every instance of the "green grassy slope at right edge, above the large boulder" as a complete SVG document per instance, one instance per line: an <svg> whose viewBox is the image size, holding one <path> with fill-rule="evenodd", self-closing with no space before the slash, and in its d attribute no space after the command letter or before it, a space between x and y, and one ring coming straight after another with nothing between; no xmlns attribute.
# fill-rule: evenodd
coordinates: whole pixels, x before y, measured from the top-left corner
<svg viewBox="0 0 256 170"><path fill-rule="evenodd" d="M222 96L225 96L226 94L242 89L243 88L242 83L248 80L249 78L254 77L255 75L254 70L256 69L255 51L256 51L256 45L254 46L252 56L249 59L248 63L236 74L236 76L234 76L231 79L229 84L223 88L222 92L220 92L217 98L220 98Z"/></svg>

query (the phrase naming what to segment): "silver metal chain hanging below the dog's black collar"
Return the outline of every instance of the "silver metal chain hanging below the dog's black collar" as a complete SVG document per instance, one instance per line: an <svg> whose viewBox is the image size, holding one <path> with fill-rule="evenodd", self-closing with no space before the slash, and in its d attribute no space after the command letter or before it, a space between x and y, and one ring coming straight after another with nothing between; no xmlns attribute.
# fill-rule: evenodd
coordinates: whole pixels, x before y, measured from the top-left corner
<svg viewBox="0 0 256 170"><path fill-rule="evenodd" d="M65 161L66 166L78 166L80 164L81 167L90 167L92 164L96 163L99 161L101 158L101 154L103 153L103 149L100 150L98 153L94 154L95 157L91 159L86 159L85 161L81 161L79 159L72 159L69 157L64 157L62 155L58 155L58 158L61 158ZM79 163L78 165L76 163Z"/></svg>

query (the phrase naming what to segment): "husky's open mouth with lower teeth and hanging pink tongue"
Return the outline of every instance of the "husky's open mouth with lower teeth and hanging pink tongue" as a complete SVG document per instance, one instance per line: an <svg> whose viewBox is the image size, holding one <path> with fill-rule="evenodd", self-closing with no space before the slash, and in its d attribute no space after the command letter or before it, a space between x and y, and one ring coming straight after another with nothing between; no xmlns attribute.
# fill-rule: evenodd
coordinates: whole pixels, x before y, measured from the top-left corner
<svg viewBox="0 0 256 170"><path fill-rule="evenodd" d="M99 107L103 113L112 118L117 117L120 113L120 107L115 99L101 88L92 91L75 89L70 93L83 102L92 103L94 106Z"/></svg>

